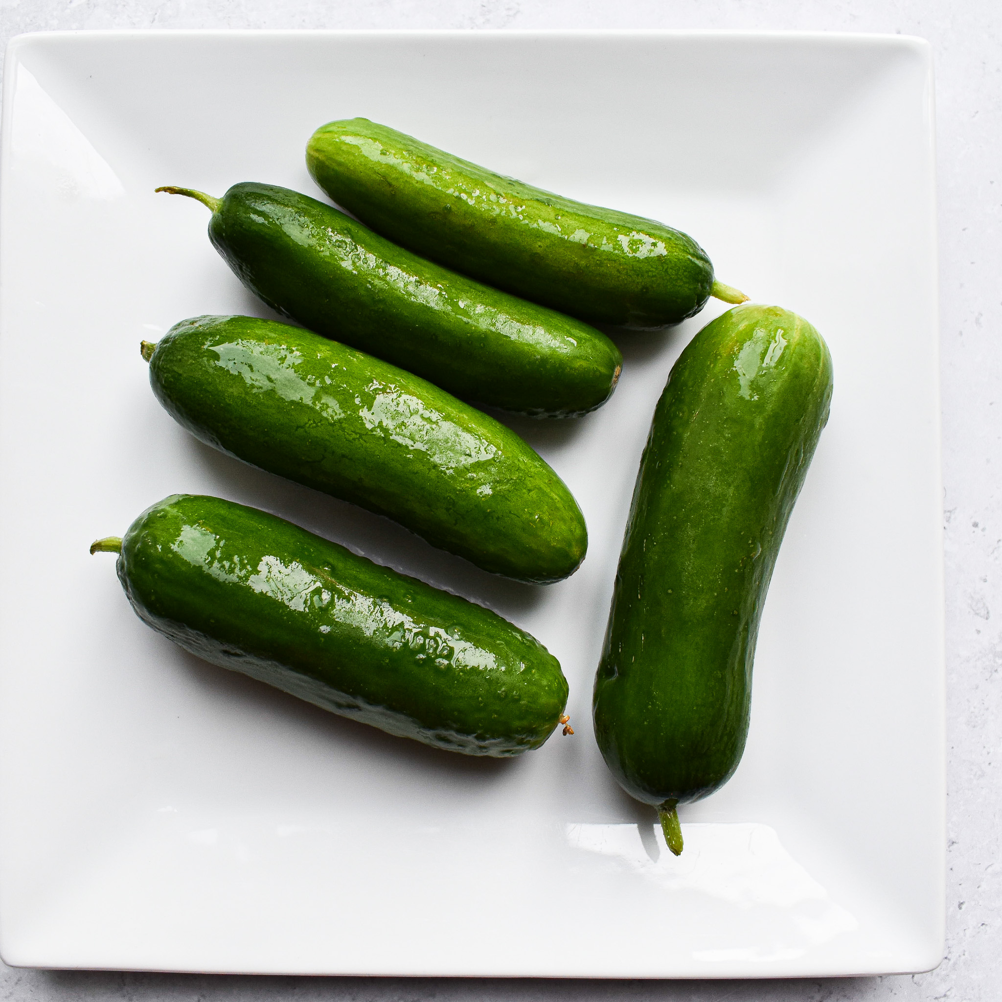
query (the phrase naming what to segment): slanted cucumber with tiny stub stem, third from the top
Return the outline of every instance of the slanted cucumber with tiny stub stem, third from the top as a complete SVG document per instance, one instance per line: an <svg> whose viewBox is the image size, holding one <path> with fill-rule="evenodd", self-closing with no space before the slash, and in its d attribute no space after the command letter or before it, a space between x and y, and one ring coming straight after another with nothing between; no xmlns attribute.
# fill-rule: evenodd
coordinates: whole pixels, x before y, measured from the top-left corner
<svg viewBox="0 0 1002 1002"><path fill-rule="evenodd" d="M563 481L513 431L418 376L253 317L182 321L143 357L170 414L244 462L520 581L559 580L584 559Z"/></svg>

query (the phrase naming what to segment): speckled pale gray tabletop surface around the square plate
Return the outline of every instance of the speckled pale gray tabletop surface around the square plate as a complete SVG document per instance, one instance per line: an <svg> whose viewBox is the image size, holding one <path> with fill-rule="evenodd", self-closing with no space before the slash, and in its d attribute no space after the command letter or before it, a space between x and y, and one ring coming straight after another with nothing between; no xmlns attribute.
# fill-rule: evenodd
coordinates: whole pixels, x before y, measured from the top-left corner
<svg viewBox="0 0 1002 1002"><path fill-rule="evenodd" d="M920 35L937 72L946 527L947 954L928 974L577 982L0 971L0 998L541 998L856 1002L1002 997L1002 7L991 0L0 0L0 41L94 28L760 28ZM994 617L993 617L994 614Z"/></svg>

